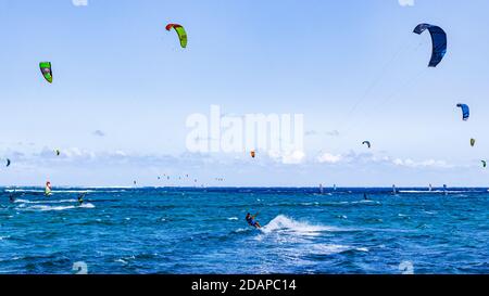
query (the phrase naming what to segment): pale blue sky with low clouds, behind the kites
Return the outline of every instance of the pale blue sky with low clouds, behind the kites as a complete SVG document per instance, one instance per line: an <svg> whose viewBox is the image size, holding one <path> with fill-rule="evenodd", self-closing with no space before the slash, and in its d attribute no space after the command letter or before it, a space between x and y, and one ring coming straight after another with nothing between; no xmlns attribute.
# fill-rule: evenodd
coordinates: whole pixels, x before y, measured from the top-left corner
<svg viewBox="0 0 489 296"><path fill-rule="evenodd" d="M0 185L193 185L186 173L206 185L488 185L487 11L485 0L0 0L0 157L12 159ZM167 23L185 26L187 49ZM437 68L418 23L448 33ZM303 114L304 156L188 152L186 118L213 104Z"/></svg>

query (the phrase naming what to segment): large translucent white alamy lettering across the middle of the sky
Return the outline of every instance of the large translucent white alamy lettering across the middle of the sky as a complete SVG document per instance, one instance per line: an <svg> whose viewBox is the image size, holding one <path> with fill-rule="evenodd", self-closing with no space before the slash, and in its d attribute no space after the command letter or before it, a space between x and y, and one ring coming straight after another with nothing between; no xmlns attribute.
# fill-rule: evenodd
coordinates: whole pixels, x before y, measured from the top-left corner
<svg viewBox="0 0 489 296"><path fill-rule="evenodd" d="M223 115L218 105L210 114L191 114L186 120L190 152L241 153L249 151L290 154L303 151L303 114Z"/></svg>

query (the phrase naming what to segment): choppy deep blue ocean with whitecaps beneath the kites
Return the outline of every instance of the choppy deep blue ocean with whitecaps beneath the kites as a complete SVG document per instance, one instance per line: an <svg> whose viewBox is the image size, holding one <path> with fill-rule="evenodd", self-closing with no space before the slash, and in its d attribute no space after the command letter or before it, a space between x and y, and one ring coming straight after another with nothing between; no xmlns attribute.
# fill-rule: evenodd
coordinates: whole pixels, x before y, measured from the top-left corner
<svg viewBox="0 0 489 296"><path fill-rule="evenodd" d="M489 273L487 189L42 192L1 190L0 273Z"/></svg>

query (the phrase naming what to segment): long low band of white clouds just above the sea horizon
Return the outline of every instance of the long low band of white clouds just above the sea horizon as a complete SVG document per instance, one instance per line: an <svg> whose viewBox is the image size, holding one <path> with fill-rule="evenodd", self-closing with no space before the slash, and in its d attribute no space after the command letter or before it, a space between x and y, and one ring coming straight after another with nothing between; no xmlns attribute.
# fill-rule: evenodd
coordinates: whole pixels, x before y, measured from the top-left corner
<svg viewBox="0 0 489 296"><path fill-rule="evenodd" d="M52 147L43 147L37 152L27 151L8 151L9 158L13 164L29 165L33 167L84 167L93 166L120 166L120 165L137 165L138 167L199 167L199 166L247 166L249 164L248 154L242 156L226 157L225 154L202 154L202 153L184 153L180 155L165 154L140 154L137 152L127 152L122 150L114 151L91 151L82 147L59 147L61 154L58 156ZM268 157L266 157L268 156ZM347 153L324 152L314 158L306 158L304 151L294 150L288 152L268 151L259 153L259 157L253 163L260 163L263 166L273 163L277 165L302 165L310 167L314 164L319 165L351 165L358 167L399 167L409 169L444 169L454 168L459 165L449 164L442 159L412 159L391 157L386 153L355 153L353 151ZM477 164L478 166L478 164Z"/></svg>

